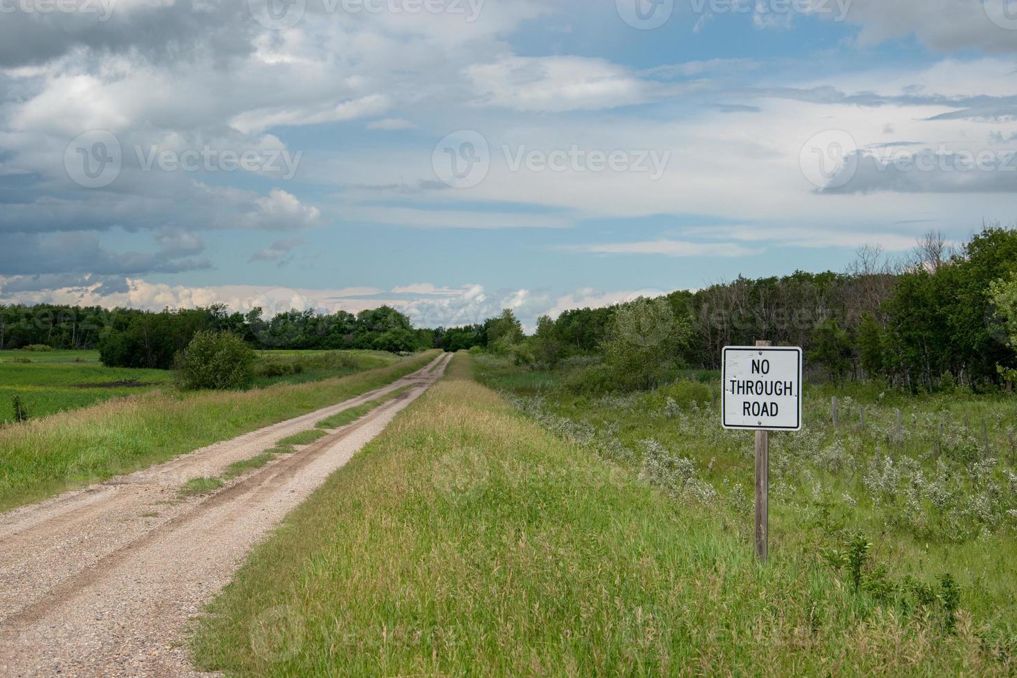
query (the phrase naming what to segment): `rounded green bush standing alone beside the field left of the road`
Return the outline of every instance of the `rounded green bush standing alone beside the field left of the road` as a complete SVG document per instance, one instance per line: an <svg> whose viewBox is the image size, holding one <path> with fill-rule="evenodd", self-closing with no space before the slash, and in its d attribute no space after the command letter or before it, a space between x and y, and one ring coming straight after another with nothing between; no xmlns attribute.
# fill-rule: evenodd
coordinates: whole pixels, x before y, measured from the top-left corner
<svg viewBox="0 0 1017 678"><path fill-rule="evenodd" d="M183 388L237 388L251 378L254 351L233 332L199 331L178 361Z"/></svg>

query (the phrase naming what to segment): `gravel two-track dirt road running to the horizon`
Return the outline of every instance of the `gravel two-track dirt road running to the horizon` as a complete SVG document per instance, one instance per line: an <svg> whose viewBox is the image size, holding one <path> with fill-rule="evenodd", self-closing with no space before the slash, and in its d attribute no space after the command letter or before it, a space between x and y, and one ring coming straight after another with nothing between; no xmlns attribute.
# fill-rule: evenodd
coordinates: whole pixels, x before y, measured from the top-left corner
<svg viewBox="0 0 1017 678"><path fill-rule="evenodd" d="M187 620L255 542L440 377L450 359L340 405L0 515L0 676L200 675L187 661ZM314 444L211 496L178 501L185 481L218 475L407 385Z"/></svg>

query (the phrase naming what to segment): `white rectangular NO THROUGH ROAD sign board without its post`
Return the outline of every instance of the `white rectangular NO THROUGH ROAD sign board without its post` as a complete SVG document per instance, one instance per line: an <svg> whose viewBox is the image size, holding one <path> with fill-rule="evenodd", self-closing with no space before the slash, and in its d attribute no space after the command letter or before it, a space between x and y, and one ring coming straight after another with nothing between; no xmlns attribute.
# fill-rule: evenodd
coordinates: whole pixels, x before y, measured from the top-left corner
<svg viewBox="0 0 1017 678"><path fill-rule="evenodd" d="M801 349L729 346L722 364L724 428L801 430Z"/></svg>

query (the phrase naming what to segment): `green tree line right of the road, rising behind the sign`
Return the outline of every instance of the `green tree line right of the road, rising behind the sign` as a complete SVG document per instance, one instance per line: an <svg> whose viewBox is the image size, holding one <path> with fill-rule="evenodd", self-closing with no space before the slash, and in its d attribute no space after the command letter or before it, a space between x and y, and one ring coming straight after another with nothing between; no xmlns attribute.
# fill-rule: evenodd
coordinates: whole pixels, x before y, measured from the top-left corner
<svg viewBox="0 0 1017 678"><path fill-rule="evenodd" d="M814 373L833 380L935 390L1017 379L1017 231L998 226L956 250L930 233L899 261L866 247L844 272L738 278L645 301L541 317L530 337L492 337L492 326L512 324L505 311L472 335L521 363L600 356L618 369L591 370L589 381L621 387L645 387L679 365L719 368L724 346L757 340L802 347ZM634 357L640 365L626 363Z"/></svg>

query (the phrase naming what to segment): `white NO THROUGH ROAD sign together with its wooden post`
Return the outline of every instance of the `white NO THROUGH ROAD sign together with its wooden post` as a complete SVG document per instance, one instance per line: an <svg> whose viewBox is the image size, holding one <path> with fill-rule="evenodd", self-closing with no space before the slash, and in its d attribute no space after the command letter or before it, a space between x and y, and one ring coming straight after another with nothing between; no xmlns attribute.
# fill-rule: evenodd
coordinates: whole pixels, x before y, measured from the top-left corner
<svg viewBox="0 0 1017 678"><path fill-rule="evenodd" d="M756 557L766 562L770 516L770 431L801 430L801 349L726 347L721 412L725 429L756 431Z"/></svg>

